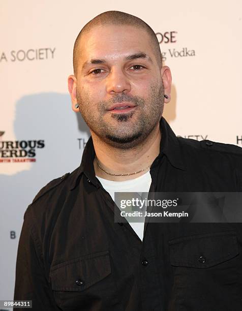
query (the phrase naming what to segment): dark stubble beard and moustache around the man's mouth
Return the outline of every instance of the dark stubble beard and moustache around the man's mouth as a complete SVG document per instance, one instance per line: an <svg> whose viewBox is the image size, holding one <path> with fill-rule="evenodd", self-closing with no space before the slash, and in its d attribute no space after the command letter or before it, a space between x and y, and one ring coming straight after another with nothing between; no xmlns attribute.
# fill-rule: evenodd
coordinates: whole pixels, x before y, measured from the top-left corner
<svg viewBox="0 0 242 311"><path fill-rule="evenodd" d="M162 82L150 86L147 100L122 93L97 103L97 109L91 109L89 98L88 94L82 92L80 95L77 91L77 102L84 121L101 140L119 149L130 149L142 144L157 126L164 108ZM132 102L136 107L128 113L108 111L113 104L122 102ZM114 125L110 118L115 121Z"/></svg>

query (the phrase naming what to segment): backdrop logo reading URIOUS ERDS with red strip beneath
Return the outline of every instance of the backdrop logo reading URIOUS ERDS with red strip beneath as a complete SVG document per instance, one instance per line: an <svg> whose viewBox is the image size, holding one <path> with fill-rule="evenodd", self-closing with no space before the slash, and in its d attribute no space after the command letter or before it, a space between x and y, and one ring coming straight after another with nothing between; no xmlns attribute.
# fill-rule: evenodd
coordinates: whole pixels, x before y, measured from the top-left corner
<svg viewBox="0 0 242 311"><path fill-rule="evenodd" d="M4 140L0 131L0 163L36 162L37 149L45 147L44 140Z"/></svg>

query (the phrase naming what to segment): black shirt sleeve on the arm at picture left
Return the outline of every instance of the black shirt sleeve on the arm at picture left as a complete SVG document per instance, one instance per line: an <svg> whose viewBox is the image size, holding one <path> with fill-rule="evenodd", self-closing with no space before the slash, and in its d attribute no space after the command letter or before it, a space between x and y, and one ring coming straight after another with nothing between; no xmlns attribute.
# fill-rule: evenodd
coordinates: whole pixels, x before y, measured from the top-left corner
<svg viewBox="0 0 242 311"><path fill-rule="evenodd" d="M24 215L18 244L14 300L32 300L33 311L59 310L45 275L41 244L29 208ZM26 311L26 308L14 310Z"/></svg>

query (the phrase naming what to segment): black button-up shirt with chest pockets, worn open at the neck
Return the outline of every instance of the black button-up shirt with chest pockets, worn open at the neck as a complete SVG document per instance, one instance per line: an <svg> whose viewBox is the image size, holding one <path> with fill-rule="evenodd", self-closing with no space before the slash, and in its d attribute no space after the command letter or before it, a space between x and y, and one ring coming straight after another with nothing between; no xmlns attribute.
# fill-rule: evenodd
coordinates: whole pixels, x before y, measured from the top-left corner
<svg viewBox="0 0 242 311"><path fill-rule="evenodd" d="M242 151L178 138L164 118L149 192L241 192ZM143 241L114 223L95 176L92 138L81 165L28 206L18 246L15 300L33 310L242 309L242 225L145 223Z"/></svg>

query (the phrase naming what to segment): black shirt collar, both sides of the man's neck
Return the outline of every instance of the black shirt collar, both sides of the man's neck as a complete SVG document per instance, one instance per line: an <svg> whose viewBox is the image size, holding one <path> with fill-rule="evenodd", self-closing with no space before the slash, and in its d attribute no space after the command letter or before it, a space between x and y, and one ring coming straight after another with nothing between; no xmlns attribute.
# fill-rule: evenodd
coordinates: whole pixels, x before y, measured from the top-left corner
<svg viewBox="0 0 242 311"><path fill-rule="evenodd" d="M162 154L165 154L172 166L178 169L185 170L179 141L164 117L162 117L160 121L160 130L162 133L162 138L158 158L161 158ZM90 136L83 150L81 165L73 172L72 176L70 176L72 179L70 183L71 190L75 188L77 181L83 173L86 175L87 179L89 179L94 185L99 185L99 181L95 176L93 166L94 158L95 149L92 136Z"/></svg>

